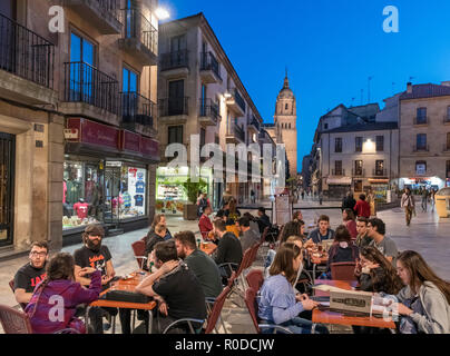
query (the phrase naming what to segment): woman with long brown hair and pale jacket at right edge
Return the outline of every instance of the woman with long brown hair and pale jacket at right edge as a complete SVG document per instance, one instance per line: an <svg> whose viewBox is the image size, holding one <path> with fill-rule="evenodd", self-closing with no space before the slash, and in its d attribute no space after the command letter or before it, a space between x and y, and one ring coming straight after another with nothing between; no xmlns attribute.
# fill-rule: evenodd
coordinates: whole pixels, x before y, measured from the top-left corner
<svg viewBox="0 0 450 356"><path fill-rule="evenodd" d="M405 287L397 295L402 334L450 333L450 284L439 278L422 256L403 251L397 271Z"/></svg>

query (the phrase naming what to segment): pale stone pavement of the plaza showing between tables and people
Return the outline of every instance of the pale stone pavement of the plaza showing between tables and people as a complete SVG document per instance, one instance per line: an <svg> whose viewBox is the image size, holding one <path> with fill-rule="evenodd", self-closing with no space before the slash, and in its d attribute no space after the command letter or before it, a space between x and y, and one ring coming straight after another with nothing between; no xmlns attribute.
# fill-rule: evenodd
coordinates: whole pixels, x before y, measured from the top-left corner
<svg viewBox="0 0 450 356"><path fill-rule="evenodd" d="M335 207L336 202L324 202L322 207ZM257 205L256 205L257 206ZM255 206L255 207L256 207ZM270 206L268 204L266 206ZM317 202L303 201L299 206L316 207ZM254 209L248 209L255 212ZM419 209L420 210L420 209ZM304 209L303 217L306 225L313 224L314 218L321 214L330 216L332 227L341 224L340 209ZM387 233L394 239L399 250L413 249L419 251L432 268L442 278L450 280L450 219L439 219L436 212L418 211L410 227L405 226L404 214L400 208L385 210L378 214L378 217L387 224ZM197 221L185 221L180 217L169 217L167 219L169 230L175 234L180 230L193 230L198 235ZM107 245L113 255L113 261L118 275L124 275L137 267L133 257L131 244L140 239L147 233L146 229L127 233L119 236L106 238ZM74 253L80 245L66 247L62 250ZM8 281L13 277L16 270L28 261L28 257L17 258L0 263L0 304L16 306L14 297L9 289ZM260 255L255 263L255 268L262 268L263 256ZM236 297L235 297L236 298ZM254 333L252 320L248 316L243 300L235 300L242 307L237 307L232 301L224 306L223 318L227 333ZM120 330L118 326L117 330ZM223 330L222 330L223 332ZM333 327L333 333L351 333L349 328Z"/></svg>

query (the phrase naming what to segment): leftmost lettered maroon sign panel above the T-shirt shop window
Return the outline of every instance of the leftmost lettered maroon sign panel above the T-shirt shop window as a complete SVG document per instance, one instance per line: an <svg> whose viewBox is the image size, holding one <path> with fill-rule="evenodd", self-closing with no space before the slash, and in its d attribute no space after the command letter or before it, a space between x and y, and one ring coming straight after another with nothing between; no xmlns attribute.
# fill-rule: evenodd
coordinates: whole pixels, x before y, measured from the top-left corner
<svg viewBox="0 0 450 356"><path fill-rule="evenodd" d="M78 129L78 142L118 148L119 130L117 128L81 118L67 120L68 129Z"/></svg>

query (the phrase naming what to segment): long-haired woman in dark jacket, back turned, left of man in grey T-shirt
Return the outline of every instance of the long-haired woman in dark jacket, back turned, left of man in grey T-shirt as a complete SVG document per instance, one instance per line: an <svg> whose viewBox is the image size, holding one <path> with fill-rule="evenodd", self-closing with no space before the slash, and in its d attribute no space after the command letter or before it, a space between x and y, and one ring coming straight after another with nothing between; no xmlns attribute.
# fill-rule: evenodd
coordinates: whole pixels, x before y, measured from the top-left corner
<svg viewBox="0 0 450 356"><path fill-rule="evenodd" d="M322 278L331 279L331 264L354 263L359 254L358 246L352 243L349 230L345 226L340 225L335 231L334 243L329 250L326 274L322 275Z"/></svg>

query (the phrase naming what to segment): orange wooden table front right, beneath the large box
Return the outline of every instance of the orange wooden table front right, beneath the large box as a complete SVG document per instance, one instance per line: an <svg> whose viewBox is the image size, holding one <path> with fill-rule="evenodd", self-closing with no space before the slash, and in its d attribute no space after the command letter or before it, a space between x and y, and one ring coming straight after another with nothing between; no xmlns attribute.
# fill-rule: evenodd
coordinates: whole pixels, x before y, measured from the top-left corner
<svg viewBox="0 0 450 356"><path fill-rule="evenodd" d="M356 287L356 281L348 280L321 280L320 284L329 285L342 289L351 290ZM316 296L329 296L330 293L316 290ZM335 325L348 325L348 326L369 326L379 328L395 329L395 323L390 320L387 322L382 317L374 316L346 316L343 313L331 312L331 310L313 310L314 324L335 324Z"/></svg>

